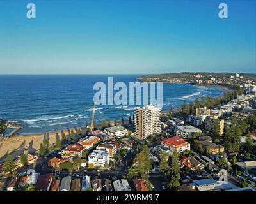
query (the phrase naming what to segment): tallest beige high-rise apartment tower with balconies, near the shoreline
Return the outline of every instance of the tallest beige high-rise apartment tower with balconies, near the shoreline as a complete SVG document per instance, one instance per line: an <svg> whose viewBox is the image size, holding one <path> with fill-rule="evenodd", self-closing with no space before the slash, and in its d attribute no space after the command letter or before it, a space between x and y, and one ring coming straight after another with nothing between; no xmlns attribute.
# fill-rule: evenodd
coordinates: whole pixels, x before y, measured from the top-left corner
<svg viewBox="0 0 256 204"><path fill-rule="evenodd" d="M134 117L134 133L138 138L161 132L161 108L154 105L135 108Z"/></svg>

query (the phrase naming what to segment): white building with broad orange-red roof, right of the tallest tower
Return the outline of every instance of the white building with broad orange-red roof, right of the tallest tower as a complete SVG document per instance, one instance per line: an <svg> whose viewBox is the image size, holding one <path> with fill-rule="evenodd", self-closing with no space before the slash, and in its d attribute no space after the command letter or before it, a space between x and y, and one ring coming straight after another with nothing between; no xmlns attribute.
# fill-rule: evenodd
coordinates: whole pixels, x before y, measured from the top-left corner
<svg viewBox="0 0 256 204"><path fill-rule="evenodd" d="M177 151L179 153L184 152L185 150L190 150L190 143L186 142L184 139L179 136L173 136L163 140L162 145L170 150Z"/></svg>

